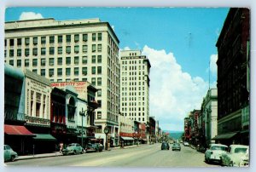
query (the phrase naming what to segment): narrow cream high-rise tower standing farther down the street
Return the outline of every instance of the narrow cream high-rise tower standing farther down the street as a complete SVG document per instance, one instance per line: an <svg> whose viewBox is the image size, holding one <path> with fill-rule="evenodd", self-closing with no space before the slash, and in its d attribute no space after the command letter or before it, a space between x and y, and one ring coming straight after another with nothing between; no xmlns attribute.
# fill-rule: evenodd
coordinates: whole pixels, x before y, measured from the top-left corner
<svg viewBox="0 0 256 172"><path fill-rule="evenodd" d="M120 112L140 123L149 122L149 71L141 51L120 52Z"/></svg>

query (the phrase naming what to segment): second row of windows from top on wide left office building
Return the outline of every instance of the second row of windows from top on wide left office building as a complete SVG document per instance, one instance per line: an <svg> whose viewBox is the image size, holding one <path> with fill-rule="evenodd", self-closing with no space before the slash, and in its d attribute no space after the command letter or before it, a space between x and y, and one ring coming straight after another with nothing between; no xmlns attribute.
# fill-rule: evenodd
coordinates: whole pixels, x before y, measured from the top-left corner
<svg viewBox="0 0 256 172"><path fill-rule="evenodd" d="M73 47L73 53L74 54L79 54L80 52L80 46L75 45ZM71 46L66 46L66 53L71 54ZM31 52L31 49L25 49L25 56L29 56ZM83 45L82 46L82 52L87 53L88 52L88 45ZM96 53L96 52L102 52L102 44L92 44L91 45L91 52ZM63 48L62 47L57 47L57 54L62 54L63 53ZM16 52L17 56L20 57L22 56L22 49L17 49ZM46 54L46 48L41 48L41 55ZM55 54L55 47L49 47L49 54ZM38 48L33 48L32 49L32 55L38 55ZM4 50L4 57L6 57L6 50ZM15 56L15 50L14 49L9 49L9 57L14 57Z"/></svg>

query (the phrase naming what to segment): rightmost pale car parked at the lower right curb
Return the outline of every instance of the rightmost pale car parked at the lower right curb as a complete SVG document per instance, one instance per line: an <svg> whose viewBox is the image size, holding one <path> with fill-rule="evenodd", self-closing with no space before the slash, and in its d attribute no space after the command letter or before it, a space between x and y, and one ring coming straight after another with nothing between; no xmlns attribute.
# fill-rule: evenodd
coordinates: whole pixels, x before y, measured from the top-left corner
<svg viewBox="0 0 256 172"><path fill-rule="evenodd" d="M238 167L243 157L246 156L249 146L245 145L230 145L228 152L221 156L221 165Z"/></svg>

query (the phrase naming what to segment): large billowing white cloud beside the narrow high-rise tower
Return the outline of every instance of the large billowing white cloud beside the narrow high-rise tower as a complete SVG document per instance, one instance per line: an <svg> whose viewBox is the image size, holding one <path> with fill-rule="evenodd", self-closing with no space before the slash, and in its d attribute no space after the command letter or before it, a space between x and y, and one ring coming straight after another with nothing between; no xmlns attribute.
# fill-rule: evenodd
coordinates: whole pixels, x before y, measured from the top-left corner
<svg viewBox="0 0 256 172"><path fill-rule="evenodd" d="M183 118L201 108L208 84L201 77L191 77L172 53L143 48L150 64L150 116L160 119L162 129L183 130Z"/></svg>

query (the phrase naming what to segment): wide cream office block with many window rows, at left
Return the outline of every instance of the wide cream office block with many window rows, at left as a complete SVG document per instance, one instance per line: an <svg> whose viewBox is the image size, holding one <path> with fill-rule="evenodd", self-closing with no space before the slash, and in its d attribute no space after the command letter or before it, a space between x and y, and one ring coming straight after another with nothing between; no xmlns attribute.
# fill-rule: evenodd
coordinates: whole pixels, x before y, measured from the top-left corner
<svg viewBox="0 0 256 172"><path fill-rule="evenodd" d="M96 137L108 126L118 143L119 39L108 22L18 20L5 23L5 62L51 82L88 81L96 86Z"/></svg>

